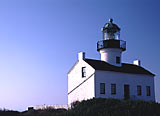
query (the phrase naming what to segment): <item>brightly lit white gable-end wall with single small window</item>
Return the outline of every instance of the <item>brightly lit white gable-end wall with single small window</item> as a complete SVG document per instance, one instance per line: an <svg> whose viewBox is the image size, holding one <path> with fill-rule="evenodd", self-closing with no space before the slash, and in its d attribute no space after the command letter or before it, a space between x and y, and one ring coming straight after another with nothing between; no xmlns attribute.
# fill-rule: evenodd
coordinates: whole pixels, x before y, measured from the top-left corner
<svg viewBox="0 0 160 116"><path fill-rule="evenodd" d="M86 77L84 78L82 78L82 67L86 67ZM68 73L68 104L74 101L91 99L95 96L94 72L95 70L84 60L80 60L72 68Z"/></svg>

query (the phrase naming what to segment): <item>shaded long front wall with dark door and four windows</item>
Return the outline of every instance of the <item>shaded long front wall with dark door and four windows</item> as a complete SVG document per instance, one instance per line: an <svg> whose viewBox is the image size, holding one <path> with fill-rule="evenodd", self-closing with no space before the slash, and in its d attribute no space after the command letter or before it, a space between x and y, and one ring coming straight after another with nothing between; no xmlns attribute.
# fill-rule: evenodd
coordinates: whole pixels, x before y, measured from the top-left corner
<svg viewBox="0 0 160 116"><path fill-rule="evenodd" d="M105 94L100 94L100 83L105 83ZM111 84L116 84L116 95L111 95ZM95 72L95 97L124 99L124 84L130 85L130 98L155 101L154 78L143 74L129 74L110 71ZM137 96L137 85L142 87L142 95ZM146 95L150 86L151 96Z"/></svg>

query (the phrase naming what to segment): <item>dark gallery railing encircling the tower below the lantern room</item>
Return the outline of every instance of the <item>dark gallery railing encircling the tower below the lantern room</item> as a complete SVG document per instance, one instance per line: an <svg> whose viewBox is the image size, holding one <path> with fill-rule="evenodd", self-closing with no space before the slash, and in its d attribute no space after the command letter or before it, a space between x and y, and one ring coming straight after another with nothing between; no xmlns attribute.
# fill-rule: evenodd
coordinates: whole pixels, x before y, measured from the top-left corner
<svg viewBox="0 0 160 116"><path fill-rule="evenodd" d="M120 48L123 51L126 50L126 41L123 40L102 40L97 42L97 51L104 49L104 48Z"/></svg>

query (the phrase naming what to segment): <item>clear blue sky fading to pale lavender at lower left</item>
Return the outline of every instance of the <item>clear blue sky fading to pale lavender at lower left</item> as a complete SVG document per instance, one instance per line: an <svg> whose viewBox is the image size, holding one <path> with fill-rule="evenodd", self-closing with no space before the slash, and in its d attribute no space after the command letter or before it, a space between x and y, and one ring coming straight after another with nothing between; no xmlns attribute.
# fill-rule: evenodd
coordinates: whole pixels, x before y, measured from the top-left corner
<svg viewBox="0 0 160 116"><path fill-rule="evenodd" d="M123 62L155 73L160 102L159 0L0 0L0 108L67 104L67 72L77 53L100 59L109 18L127 42Z"/></svg>

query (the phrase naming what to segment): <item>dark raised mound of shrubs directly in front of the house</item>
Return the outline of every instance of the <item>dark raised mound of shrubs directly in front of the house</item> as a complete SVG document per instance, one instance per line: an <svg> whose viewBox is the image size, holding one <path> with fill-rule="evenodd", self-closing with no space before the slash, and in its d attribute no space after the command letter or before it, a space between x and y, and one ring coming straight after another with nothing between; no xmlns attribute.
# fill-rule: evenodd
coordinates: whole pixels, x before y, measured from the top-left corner
<svg viewBox="0 0 160 116"><path fill-rule="evenodd" d="M160 116L160 104L99 98L77 103L62 116Z"/></svg>

